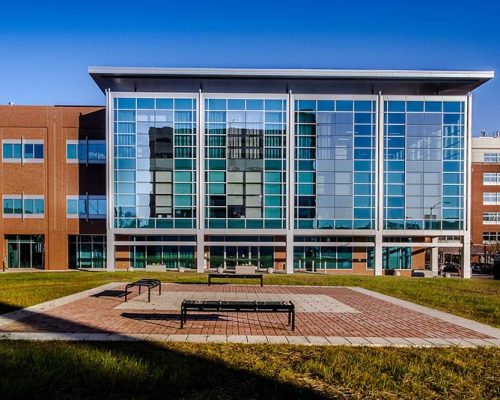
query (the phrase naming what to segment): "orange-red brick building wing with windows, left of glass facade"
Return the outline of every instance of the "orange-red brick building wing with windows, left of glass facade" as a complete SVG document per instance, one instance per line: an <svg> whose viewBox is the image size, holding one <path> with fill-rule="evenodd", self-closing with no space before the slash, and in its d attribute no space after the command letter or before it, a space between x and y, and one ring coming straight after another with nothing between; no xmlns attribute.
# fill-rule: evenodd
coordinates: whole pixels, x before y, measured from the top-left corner
<svg viewBox="0 0 500 400"><path fill-rule="evenodd" d="M105 122L102 107L0 107L7 267L105 265Z"/></svg>

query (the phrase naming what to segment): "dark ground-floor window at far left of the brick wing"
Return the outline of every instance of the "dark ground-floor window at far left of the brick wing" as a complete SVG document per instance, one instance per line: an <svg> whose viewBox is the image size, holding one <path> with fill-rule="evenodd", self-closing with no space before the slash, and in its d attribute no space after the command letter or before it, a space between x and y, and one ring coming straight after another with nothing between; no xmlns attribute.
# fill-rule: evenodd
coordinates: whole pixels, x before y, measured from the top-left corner
<svg viewBox="0 0 500 400"><path fill-rule="evenodd" d="M7 235L8 268L44 267L43 235Z"/></svg>

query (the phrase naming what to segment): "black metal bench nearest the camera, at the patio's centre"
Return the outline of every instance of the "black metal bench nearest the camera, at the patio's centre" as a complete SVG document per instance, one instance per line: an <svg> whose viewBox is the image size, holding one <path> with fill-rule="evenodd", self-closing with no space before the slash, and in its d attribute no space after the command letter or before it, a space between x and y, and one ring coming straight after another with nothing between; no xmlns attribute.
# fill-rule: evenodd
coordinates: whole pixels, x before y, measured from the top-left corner
<svg viewBox="0 0 500 400"><path fill-rule="evenodd" d="M295 330L295 305L291 301L219 301L184 300L181 304L181 329L187 322L188 311L233 311L287 313L288 325Z"/></svg>

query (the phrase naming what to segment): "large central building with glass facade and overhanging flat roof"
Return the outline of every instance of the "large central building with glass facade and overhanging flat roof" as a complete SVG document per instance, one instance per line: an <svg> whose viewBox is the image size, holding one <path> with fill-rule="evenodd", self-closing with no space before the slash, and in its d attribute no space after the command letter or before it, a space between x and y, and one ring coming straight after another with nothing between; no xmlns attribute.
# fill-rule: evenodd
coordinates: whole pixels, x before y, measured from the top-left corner
<svg viewBox="0 0 500 400"><path fill-rule="evenodd" d="M467 258L480 73L90 74L107 96L109 269L380 275L434 268L443 246Z"/></svg>

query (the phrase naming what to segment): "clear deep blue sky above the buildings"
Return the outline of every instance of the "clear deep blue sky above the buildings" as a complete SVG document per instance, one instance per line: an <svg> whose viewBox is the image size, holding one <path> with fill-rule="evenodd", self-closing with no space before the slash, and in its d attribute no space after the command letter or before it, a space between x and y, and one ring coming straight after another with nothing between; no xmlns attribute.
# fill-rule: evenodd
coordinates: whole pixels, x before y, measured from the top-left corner
<svg viewBox="0 0 500 400"><path fill-rule="evenodd" d="M487 69L474 133L500 130L500 2L22 1L0 12L0 104L103 104L91 65Z"/></svg>

